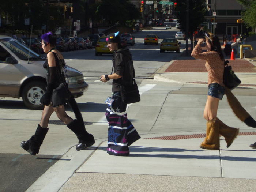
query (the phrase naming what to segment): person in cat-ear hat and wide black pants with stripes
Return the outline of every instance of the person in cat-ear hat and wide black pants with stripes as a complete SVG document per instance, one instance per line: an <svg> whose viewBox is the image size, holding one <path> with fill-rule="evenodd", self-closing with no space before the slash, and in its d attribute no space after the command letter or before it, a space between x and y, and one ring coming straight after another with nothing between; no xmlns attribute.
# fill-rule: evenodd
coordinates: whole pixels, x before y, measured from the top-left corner
<svg viewBox="0 0 256 192"><path fill-rule="evenodd" d="M102 82L113 79L112 97L106 100L106 119L108 121L108 147L107 153L110 155L127 156L129 148L133 142L140 139L136 129L126 114L126 105L120 94L121 85L131 85L135 77L132 55L129 49L123 49L119 32L111 33L107 36L108 48L113 52L114 74L101 75Z"/></svg>

